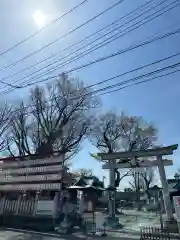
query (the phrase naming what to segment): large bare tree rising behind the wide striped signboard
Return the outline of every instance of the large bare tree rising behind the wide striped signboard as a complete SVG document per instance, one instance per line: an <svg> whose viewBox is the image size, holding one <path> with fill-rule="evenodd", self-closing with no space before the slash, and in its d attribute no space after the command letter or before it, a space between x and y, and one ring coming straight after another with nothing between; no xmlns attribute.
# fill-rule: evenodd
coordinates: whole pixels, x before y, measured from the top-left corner
<svg viewBox="0 0 180 240"><path fill-rule="evenodd" d="M31 90L30 107L14 114L8 149L15 142L20 155L76 154L89 134L94 108L99 104L82 82L62 74L59 79Z"/></svg>

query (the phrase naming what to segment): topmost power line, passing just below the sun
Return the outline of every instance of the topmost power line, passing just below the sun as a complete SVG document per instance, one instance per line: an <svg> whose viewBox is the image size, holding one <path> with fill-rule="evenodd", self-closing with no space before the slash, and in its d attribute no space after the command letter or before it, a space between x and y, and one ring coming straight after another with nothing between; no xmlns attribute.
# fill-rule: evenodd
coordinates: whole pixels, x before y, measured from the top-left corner
<svg viewBox="0 0 180 240"><path fill-rule="evenodd" d="M82 2L80 2L78 5L74 6L73 8L71 8L70 10L68 10L66 13L64 13L63 15L61 15L60 17L56 18L55 20L53 20L52 22L50 22L49 24L47 24L46 26L44 26L43 28L41 28L40 30L36 31L35 33L31 34L29 37L24 38L23 40L21 40L20 42L16 43L14 46L6 49L4 52L0 53L0 56L10 52L11 50L13 50L14 48L18 47L19 45L27 42L29 39L33 38L34 36L36 36L37 34L39 34L40 32L44 31L46 28L50 27L51 25L53 25L54 23L56 23L57 21L61 20L62 18L64 18L66 15L68 15L69 13L73 12L74 10L76 10L77 8L79 8L80 6L82 6L83 4L85 4L88 0L84 0Z"/></svg>

